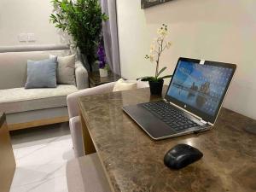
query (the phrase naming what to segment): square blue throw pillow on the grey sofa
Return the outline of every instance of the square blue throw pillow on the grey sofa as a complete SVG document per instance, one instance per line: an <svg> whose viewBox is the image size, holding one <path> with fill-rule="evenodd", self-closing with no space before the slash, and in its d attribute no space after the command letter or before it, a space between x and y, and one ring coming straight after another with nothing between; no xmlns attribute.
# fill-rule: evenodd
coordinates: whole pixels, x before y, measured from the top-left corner
<svg viewBox="0 0 256 192"><path fill-rule="evenodd" d="M42 61L27 61L26 89L56 87L57 57Z"/></svg>

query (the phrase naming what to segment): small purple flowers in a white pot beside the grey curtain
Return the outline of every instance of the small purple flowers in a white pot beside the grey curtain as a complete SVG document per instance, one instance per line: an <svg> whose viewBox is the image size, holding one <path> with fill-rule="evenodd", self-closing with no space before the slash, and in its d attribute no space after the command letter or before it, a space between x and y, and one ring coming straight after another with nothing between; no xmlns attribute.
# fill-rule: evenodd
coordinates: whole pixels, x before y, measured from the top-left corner
<svg viewBox="0 0 256 192"><path fill-rule="evenodd" d="M105 54L103 44L99 44L97 55L98 55L98 60L99 60L100 76L102 78L108 77L108 64L107 64L107 61L106 61L106 54Z"/></svg>

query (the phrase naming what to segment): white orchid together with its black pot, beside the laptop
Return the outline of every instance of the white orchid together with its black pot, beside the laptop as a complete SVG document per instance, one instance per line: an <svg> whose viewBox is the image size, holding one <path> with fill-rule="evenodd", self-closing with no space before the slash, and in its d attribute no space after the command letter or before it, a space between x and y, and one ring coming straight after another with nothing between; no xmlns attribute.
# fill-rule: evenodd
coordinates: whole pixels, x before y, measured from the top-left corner
<svg viewBox="0 0 256 192"><path fill-rule="evenodd" d="M151 44L150 54L145 56L145 59L156 64L154 76L139 78L142 79L142 81L148 81L150 93L152 95L161 95L164 79L172 77L172 75L160 77L160 74L167 68L163 67L160 69L160 55L165 49L169 49L171 47L171 42L166 42L166 37L168 35L168 28L166 24L160 26L157 33L159 36L153 41L153 44Z"/></svg>

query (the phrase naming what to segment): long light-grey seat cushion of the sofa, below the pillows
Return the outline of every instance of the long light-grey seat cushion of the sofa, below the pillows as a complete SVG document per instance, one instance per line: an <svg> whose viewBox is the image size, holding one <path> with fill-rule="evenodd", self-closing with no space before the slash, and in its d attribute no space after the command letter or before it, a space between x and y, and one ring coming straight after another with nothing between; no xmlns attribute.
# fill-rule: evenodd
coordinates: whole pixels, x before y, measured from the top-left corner
<svg viewBox="0 0 256 192"><path fill-rule="evenodd" d="M0 90L0 109L5 113L18 113L63 107L67 106L67 95L77 90L69 84L60 84L56 88Z"/></svg>

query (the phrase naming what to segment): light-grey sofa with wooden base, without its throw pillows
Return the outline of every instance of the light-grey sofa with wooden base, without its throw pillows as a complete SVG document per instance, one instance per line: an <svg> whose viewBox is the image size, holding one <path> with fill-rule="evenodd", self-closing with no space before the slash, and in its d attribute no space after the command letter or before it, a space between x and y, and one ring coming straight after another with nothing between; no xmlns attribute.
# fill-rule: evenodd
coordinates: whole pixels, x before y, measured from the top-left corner
<svg viewBox="0 0 256 192"><path fill-rule="evenodd" d="M79 60L75 63L76 86L25 89L24 85L27 60L72 52L67 44L0 47L0 111L6 113L10 131L68 121L67 95L88 88L88 73Z"/></svg>

